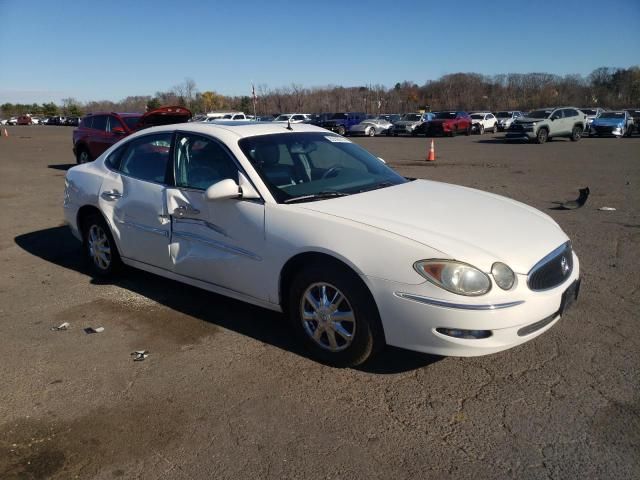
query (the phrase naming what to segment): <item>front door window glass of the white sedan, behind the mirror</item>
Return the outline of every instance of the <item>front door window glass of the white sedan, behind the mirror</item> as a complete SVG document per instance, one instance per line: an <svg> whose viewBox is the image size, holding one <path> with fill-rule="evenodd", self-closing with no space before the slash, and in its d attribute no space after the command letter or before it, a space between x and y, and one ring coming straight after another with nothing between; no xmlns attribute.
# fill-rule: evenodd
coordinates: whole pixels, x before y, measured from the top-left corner
<svg viewBox="0 0 640 480"><path fill-rule="evenodd" d="M177 187L206 190L220 180L238 179L231 155L211 138L178 134L175 159Z"/></svg>

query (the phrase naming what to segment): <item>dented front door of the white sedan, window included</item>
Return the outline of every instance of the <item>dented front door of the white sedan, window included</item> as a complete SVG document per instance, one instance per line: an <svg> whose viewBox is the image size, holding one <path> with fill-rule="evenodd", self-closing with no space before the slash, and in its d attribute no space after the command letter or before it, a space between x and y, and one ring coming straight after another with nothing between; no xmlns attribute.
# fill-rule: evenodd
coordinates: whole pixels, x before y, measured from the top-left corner
<svg viewBox="0 0 640 480"><path fill-rule="evenodd" d="M167 189L173 271L268 300L256 282L265 248L264 203L206 198L214 183L239 180L239 166L217 140L178 132L174 151L175 187Z"/></svg>

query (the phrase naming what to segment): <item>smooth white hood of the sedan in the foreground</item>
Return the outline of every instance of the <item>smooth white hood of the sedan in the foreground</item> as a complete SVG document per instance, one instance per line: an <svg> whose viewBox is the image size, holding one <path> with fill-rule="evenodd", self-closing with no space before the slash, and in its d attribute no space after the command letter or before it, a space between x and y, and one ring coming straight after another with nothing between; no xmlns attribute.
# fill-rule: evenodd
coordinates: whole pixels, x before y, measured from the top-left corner
<svg viewBox="0 0 640 480"><path fill-rule="evenodd" d="M428 180L298 206L395 233L486 272L501 261L526 274L568 240L548 215L523 203Z"/></svg>

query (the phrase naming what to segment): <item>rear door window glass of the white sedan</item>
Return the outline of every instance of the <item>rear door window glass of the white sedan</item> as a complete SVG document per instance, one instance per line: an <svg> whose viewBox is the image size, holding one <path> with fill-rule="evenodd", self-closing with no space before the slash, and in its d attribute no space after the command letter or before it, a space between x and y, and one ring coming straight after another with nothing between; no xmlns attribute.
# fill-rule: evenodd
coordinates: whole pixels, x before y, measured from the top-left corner
<svg viewBox="0 0 640 480"><path fill-rule="evenodd" d="M171 151L171 132L145 135L127 143L120 172L148 182L164 183Z"/></svg>

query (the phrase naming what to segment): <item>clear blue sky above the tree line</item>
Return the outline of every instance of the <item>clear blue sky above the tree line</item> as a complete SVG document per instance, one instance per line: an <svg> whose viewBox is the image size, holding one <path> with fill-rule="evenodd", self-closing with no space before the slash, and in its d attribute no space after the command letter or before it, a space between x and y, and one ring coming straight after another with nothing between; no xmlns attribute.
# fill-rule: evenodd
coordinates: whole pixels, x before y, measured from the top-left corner
<svg viewBox="0 0 640 480"><path fill-rule="evenodd" d="M599 32L602 33L599 33ZM0 103L640 64L640 0L0 0Z"/></svg>

